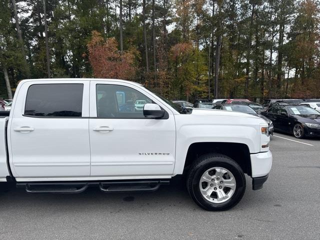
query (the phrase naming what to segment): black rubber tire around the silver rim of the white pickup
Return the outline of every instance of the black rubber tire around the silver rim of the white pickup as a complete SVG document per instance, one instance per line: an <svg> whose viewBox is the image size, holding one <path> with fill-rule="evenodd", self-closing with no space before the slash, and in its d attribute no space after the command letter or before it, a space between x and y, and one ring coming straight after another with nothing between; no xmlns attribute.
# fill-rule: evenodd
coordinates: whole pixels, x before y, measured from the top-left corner
<svg viewBox="0 0 320 240"><path fill-rule="evenodd" d="M211 202L205 199L200 192L200 178L206 170L212 167L223 167L229 170L235 178L235 190L231 197L224 202ZM235 206L241 200L245 191L245 186L244 173L239 164L230 157L218 153L208 153L198 157L190 167L186 181L187 190L195 203L209 211L227 210Z"/></svg>

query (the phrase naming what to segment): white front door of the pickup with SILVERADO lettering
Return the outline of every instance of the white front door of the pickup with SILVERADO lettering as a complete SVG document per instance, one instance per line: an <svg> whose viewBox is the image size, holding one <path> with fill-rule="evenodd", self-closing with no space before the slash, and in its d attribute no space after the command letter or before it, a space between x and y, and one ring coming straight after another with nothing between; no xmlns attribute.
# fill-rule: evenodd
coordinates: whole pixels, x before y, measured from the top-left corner
<svg viewBox="0 0 320 240"><path fill-rule="evenodd" d="M163 119L145 118L146 103L159 104ZM91 176L155 178L173 172L173 113L142 87L91 81L89 134Z"/></svg>

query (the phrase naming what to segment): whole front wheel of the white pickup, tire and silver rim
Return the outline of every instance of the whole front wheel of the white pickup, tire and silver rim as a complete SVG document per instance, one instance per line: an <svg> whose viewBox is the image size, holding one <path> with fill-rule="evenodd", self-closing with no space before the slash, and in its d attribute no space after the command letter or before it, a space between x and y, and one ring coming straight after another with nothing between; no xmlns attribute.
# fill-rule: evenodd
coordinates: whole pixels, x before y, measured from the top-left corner
<svg viewBox="0 0 320 240"><path fill-rule="evenodd" d="M210 211L235 206L245 191L243 170L231 158L217 153L200 156L187 176L187 189L200 207Z"/></svg>

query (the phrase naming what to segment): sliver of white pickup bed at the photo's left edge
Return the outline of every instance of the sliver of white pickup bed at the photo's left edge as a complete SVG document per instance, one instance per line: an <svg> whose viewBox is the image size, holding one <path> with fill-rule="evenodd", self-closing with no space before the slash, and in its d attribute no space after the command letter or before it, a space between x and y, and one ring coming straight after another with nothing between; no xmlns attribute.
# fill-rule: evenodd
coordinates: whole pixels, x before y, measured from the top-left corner
<svg viewBox="0 0 320 240"><path fill-rule="evenodd" d="M7 120L8 120L7 116L0 115L0 181L6 181L5 177L9 175L8 167L6 163L6 143L5 143L6 142L5 141L5 138L6 138L5 124Z"/></svg>

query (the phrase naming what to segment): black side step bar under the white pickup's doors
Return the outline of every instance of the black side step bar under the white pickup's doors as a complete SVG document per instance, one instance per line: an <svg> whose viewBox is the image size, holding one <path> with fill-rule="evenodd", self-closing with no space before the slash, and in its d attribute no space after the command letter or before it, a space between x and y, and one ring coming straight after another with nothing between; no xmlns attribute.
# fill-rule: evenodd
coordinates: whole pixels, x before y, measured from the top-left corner
<svg viewBox="0 0 320 240"><path fill-rule="evenodd" d="M148 192L168 185L168 180L101 181L101 182L19 182L29 193L80 193L89 186L98 186L102 192Z"/></svg>

